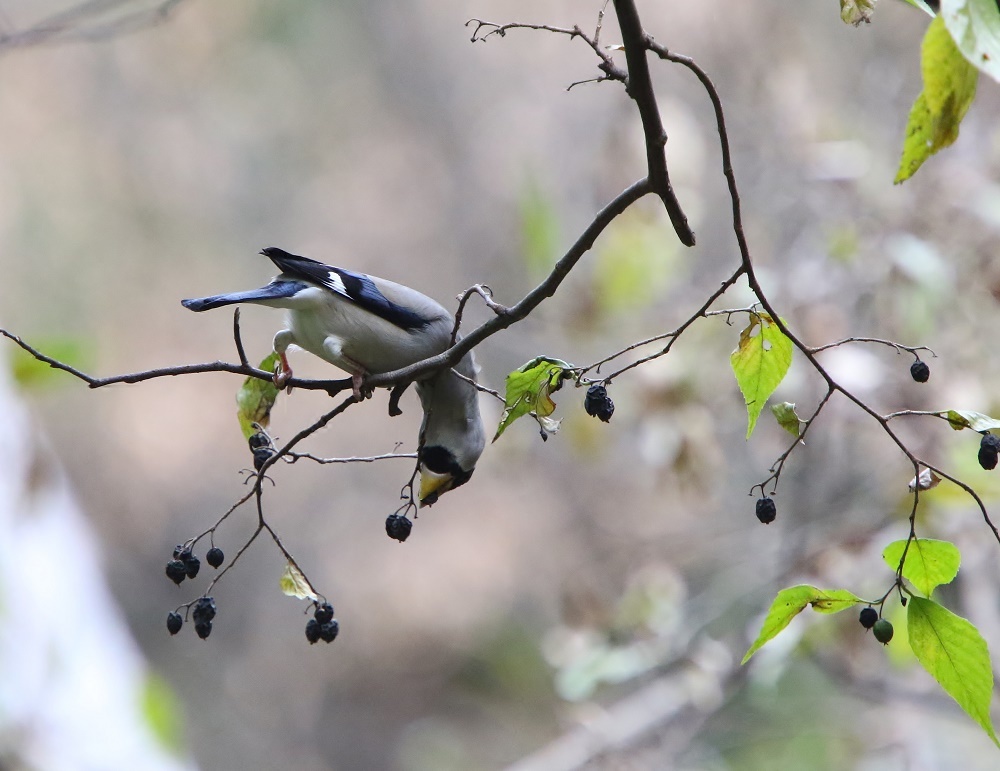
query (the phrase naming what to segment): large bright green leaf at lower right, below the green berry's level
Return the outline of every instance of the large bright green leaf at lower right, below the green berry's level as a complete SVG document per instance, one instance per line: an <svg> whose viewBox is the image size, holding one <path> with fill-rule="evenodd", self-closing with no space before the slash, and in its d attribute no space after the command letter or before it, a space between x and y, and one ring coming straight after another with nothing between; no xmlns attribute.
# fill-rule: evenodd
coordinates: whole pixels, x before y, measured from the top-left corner
<svg viewBox="0 0 1000 771"><path fill-rule="evenodd" d="M906 619L917 661L1000 747L990 720L993 667L979 630L923 597L910 598Z"/></svg>

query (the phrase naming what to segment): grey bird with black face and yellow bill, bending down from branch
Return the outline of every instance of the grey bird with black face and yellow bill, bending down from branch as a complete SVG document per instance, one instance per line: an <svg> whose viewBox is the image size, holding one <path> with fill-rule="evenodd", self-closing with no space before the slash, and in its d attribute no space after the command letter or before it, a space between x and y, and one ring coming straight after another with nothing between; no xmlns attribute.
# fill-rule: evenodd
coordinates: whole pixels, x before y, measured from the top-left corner
<svg viewBox="0 0 1000 771"><path fill-rule="evenodd" d="M415 289L273 246L261 254L281 270L267 286L181 304L199 312L236 303L287 309L286 327L274 336L274 351L281 359L274 376L279 387L292 376L285 355L290 345L348 372L356 396L365 375L391 372L449 347L454 318ZM472 353L454 369L475 380ZM445 369L418 382L417 392L424 411L419 500L430 505L441 493L469 480L486 435L472 383Z"/></svg>

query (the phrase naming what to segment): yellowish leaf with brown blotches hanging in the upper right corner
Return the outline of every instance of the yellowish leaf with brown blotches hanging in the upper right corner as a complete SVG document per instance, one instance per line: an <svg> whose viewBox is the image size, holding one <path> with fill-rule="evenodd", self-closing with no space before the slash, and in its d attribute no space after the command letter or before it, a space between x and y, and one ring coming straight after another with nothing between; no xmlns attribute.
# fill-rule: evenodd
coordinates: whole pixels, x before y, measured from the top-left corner
<svg viewBox="0 0 1000 771"><path fill-rule="evenodd" d="M924 90L910 110L895 183L905 182L938 150L958 139L958 127L976 95L979 71L969 64L937 17L920 48Z"/></svg>

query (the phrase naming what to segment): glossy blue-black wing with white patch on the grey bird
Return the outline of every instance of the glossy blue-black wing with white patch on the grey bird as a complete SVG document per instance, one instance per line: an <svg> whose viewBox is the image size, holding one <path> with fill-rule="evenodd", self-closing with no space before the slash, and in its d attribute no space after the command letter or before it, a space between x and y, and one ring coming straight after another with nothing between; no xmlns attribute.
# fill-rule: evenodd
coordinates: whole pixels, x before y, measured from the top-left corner
<svg viewBox="0 0 1000 771"><path fill-rule="evenodd" d="M344 268L334 268L308 257L289 254L275 246L269 246L261 254L269 258L285 275L322 286L400 329L423 329L441 318L442 312L447 315L429 297L391 281L375 279ZM379 288L380 284L392 299L386 297Z"/></svg>

